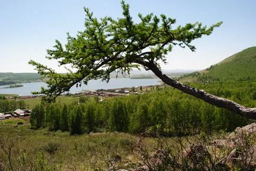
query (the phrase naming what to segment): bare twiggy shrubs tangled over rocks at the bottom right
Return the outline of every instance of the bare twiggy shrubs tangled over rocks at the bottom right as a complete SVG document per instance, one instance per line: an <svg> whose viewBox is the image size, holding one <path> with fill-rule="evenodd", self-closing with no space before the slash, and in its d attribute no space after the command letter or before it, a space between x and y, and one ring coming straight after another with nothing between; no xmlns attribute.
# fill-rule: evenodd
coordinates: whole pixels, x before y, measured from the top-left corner
<svg viewBox="0 0 256 171"><path fill-rule="evenodd" d="M149 153L138 139L135 151L139 163L129 170L254 170L256 169L256 123L236 128L226 138L188 140L185 147L181 140L175 146L160 146ZM173 149L174 148L174 149ZM116 161L116 160L115 160ZM118 160L119 161L119 160ZM120 168L120 167L116 167ZM113 170L111 167L110 170ZM118 170L118 169L116 169ZM125 169L120 169L125 170Z"/></svg>

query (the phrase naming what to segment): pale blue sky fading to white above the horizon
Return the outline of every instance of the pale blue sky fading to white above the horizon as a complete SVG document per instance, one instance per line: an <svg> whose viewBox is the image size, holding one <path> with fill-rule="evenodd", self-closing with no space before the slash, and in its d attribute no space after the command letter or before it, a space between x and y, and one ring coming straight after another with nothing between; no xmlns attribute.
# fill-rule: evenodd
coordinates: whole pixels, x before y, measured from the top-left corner
<svg viewBox="0 0 256 171"><path fill-rule="evenodd" d="M127 0L134 22L138 13L153 12L176 19L177 25L202 22L212 25L223 21L209 36L196 39L196 52L178 46L167 56L162 69L205 69L243 49L256 46L256 1L174 1ZM36 72L28 65L33 59L57 72L57 62L45 59L46 49L52 49L55 39L66 42L69 32L75 36L84 29L84 9L102 18L122 17L120 1L88 0L0 0L0 72Z"/></svg>

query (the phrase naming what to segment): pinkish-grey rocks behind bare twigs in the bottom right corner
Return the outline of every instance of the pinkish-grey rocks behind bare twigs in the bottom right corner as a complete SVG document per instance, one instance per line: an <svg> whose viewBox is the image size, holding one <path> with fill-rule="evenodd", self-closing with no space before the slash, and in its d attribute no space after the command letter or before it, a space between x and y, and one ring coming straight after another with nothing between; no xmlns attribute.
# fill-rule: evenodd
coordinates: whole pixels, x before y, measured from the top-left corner
<svg viewBox="0 0 256 171"><path fill-rule="evenodd" d="M183 157L195 163L213 156L220 159L217 164L256 168L256 123L236 128L226 139L213 140L209 145L198 141L183 150Z"/></svg>

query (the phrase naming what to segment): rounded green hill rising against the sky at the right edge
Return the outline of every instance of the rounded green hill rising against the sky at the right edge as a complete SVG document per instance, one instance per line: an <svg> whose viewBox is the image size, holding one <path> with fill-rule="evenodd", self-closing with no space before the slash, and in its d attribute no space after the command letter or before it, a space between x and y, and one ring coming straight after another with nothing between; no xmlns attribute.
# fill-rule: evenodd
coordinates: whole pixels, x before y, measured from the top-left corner
<svg viewBox="0 0 256 171"><path fill-rule="evenodd" d="M256 47L235 53L203 71L183 75L180 81L256 81Z"/></svg>

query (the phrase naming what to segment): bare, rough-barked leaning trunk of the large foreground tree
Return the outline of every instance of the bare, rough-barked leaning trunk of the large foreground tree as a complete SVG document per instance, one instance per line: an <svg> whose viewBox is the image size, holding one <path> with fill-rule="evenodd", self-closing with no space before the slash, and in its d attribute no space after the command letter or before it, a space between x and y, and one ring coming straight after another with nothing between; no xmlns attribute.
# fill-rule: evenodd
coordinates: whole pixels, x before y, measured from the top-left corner
<svg viewBox="0 0 256 171"><path fill-rule="evenodd" d="M164 83L173 88L179 89L184 93L195 96L196 98L202 99L205 102L217 106L218 108L228 109L232 112L237 113L238 115L243 116L247 119L256 119L256 108L246 108L245 106L239 105L232 100L220 98L215 95L206 93L204 90L199 90L192 88L191 86L185 85L181 82L175 81L174 79L169 78L160 71L159 68L154 63L141 63L142 65L149 68L157 77L159 77Z"/></svg>

